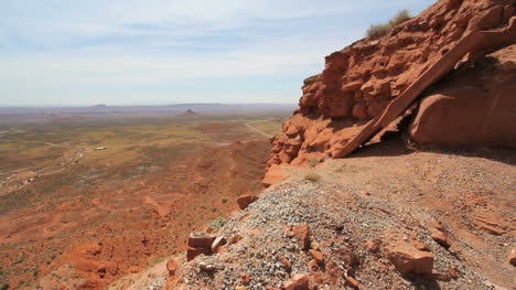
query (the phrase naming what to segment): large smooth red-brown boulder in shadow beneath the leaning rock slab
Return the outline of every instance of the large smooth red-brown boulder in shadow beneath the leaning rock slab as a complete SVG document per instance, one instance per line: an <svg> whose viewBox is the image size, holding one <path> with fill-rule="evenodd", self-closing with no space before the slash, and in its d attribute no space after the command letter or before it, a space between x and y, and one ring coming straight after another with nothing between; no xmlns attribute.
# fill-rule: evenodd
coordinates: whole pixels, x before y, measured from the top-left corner
<svg viewBox="0 0 516 290"><path fill-rule="evenodd" d="M418 143L516 146L516 45L458 71L424 97L410 137Z"/></svg>

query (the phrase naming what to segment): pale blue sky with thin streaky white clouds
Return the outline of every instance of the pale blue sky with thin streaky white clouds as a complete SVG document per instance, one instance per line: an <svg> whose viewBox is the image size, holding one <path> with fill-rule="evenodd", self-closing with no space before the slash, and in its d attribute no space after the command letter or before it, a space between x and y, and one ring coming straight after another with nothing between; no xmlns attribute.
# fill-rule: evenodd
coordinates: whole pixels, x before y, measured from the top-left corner
<svg viewBox="0 0 516 290"><path fill-rule="evenodd" d="M0 106L297 103L324 56L434 0L1 0Z"/></svg>

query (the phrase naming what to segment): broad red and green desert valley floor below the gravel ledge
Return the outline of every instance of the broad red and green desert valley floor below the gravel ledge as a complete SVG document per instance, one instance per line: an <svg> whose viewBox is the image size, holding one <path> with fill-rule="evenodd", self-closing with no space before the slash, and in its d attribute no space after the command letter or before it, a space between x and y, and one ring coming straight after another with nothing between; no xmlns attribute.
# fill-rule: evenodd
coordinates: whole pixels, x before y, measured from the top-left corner
<svg viewBox="0 0 516 290"><path fill-rule="evenodd" d="M0 137L0 288L104 289L182 253L190 230L262 190L270 144L256 130L281 118L13 126Z"/></svg>

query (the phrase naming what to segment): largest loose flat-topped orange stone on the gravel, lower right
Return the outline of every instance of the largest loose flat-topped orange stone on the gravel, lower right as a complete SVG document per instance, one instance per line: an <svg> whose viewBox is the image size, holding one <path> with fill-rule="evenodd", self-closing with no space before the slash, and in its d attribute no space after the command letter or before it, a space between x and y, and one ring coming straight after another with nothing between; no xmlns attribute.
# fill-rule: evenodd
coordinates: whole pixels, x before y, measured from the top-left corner
<svg viewBox="0 0 516 290"><path fill-rule="evenodd" d="M387 248L388 258L402 275L431 273L433 269L433 254L421 251L409 245Z"/></svg>

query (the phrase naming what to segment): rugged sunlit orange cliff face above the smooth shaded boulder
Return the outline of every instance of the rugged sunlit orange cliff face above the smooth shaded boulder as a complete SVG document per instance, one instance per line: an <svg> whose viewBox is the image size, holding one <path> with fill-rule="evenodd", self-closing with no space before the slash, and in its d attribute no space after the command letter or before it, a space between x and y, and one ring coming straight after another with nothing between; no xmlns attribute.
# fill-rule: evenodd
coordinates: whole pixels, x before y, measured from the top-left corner
<svg viewBox="0 0 516 290"><path fill-rule="evenodd" d="M268 165L332 157L428 67L475 29L505 25L510 0L443 0L377 41L361 40L325 58L304 80L300 108L272 140Z"/></svg>

